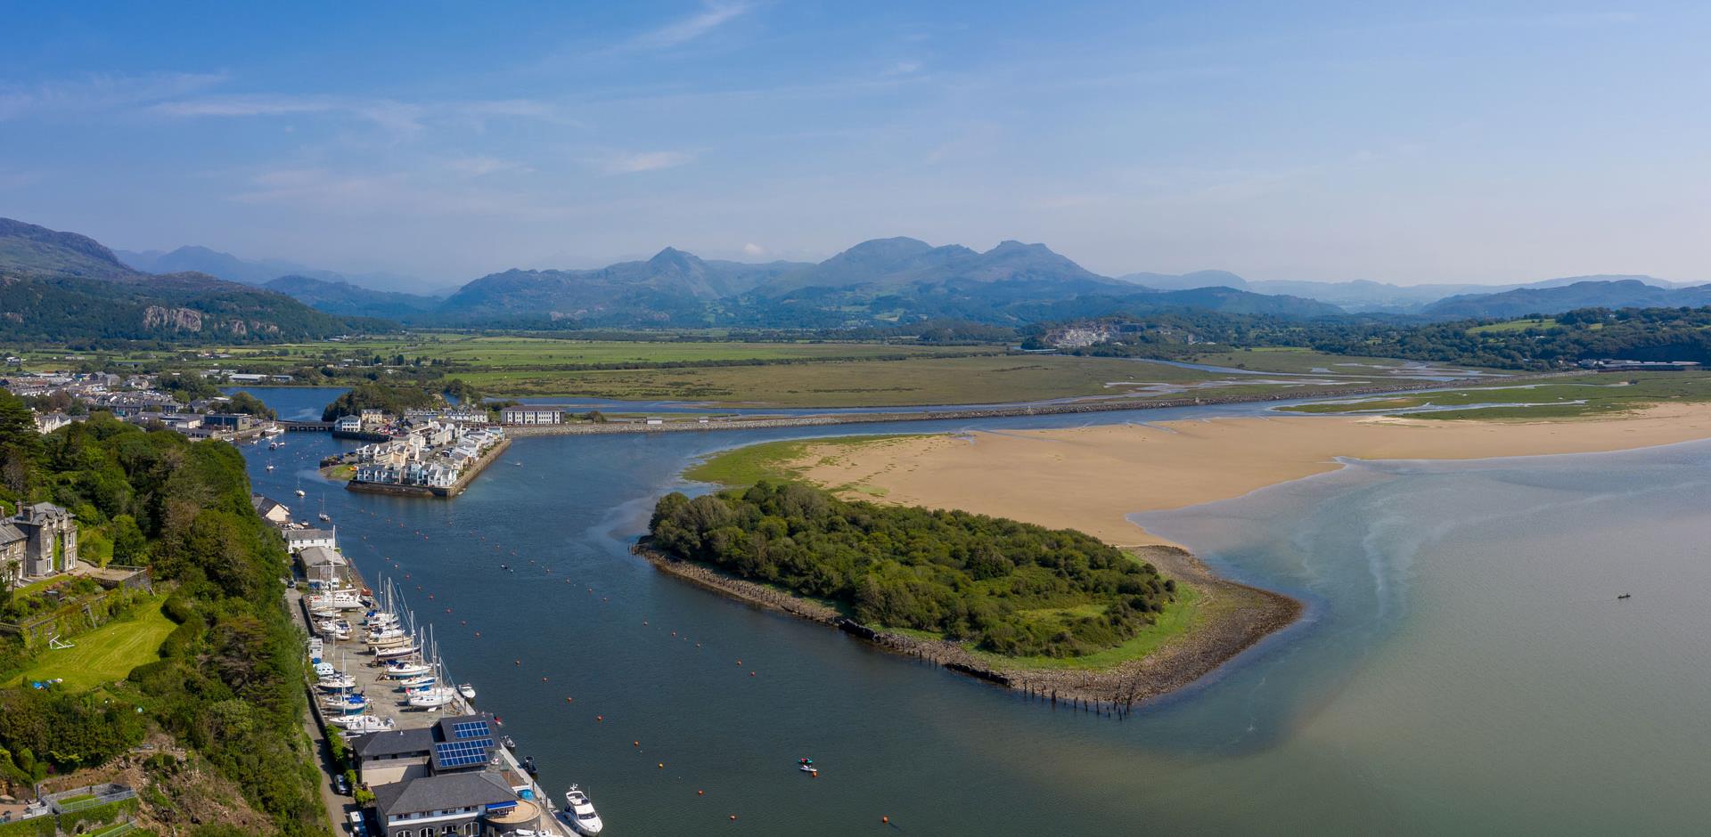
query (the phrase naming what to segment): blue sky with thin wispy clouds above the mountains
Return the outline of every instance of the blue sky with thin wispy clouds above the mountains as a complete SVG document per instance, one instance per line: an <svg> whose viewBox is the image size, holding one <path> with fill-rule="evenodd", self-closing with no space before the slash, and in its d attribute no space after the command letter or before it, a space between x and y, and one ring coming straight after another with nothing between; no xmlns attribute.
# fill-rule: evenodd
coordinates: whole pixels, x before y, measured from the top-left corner
<svg viewBox="0 0 1711 837"><path fill-rule="evenodd" d="M1711 3L0 0L0 215L423 285L914 236L1711 280Z"/></svg>

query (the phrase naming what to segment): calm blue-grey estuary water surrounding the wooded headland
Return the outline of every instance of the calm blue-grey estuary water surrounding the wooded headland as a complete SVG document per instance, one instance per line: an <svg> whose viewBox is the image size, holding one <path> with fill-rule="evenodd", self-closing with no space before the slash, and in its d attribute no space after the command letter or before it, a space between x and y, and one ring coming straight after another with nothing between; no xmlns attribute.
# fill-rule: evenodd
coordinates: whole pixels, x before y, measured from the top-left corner
<svg viewBox="0 0 1711 837"><path fill-rule="evenodd" d="M299 415L337 391L258 395ZM1711 446L1353 465L1145 516L1311 608L1117 723L734 605L628 553L695 456L784 436L809 432L525 439L452 502L323 483L315 461L352 444L323 434L246 456L260 490L303 487L308 514L325 497L363 572L406 586L544 784L582 782L614 835L1608 834L1711 815ZM820 779L794 770L802 755Z"/></svg>

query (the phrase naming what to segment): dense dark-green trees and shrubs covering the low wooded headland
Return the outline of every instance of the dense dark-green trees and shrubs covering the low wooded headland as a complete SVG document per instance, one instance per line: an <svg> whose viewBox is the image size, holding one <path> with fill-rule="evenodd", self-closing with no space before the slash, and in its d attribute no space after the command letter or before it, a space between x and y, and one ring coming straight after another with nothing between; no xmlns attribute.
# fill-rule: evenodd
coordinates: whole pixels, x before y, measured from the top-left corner
<svg viewBox="0 0 1711 837"><path fill-rule="evenodd" d="M648 531L671 555L833 600L871 627L1011 656L1116 647L1175 594L1150 564L1080 531L847 502L796 482L669 494Z"/></svg>

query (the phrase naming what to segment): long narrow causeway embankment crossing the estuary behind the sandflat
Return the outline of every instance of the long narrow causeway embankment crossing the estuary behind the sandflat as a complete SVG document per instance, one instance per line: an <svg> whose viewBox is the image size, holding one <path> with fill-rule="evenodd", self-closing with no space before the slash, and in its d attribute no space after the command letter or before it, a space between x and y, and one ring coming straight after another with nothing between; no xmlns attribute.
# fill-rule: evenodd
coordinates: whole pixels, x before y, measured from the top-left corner
<svg viewBox="0 0 1711 837"><path fill-rule="evenodd" d="M1263 401L1300 401L1305 398L1350 398L1362 395L1415 393L1427 389L1453 389L1458 386L1490 386L1519 381L1536 381L1547 378L1583 376L1586 372L1536 372L1501 379L1458 378L1451 381L1388 383L1371 386L1336 386L1304 393L1300 389L1215 395L1215 396L1181 396L1150 398L1133 401L1075 401L1075 403L1018 403L999 407L946 407L943 410L917 410L895 413L823 413L823 415L787 415L770 418L710 418L695 422L590 422L590 424L548 424L548 425L508 425L506 434L513 437L527 436L597 436L597 434L657 434L657 432L695 432L695 430L765 430L780 427L821 427L840 424L890 424L890 422L932 422L932 420L970 420L970 418L1006 418L1021 415L1076 415L1076 413L1110 413L1124 410L1165 410L1172 407L1211 407L1232 403Z"/></svg>

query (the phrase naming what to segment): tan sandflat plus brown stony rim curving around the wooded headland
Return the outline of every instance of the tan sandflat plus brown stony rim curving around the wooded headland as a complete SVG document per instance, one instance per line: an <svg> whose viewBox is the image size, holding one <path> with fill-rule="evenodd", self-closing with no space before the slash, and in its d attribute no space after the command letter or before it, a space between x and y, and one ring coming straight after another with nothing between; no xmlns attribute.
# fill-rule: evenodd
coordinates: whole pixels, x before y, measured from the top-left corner
<svg viewBox="0 0 1711 837"><path fill-rule="evenodd" d="M1542 427L1543 425L1543 427ZM1384 417L1242 417L1003 434L876 436L883 448L808 444L797 478L840 495L955 507L1049 528L1071 528L1152 562L1201 593L1194 625L1140 659L1109 670L1006 666L955 642L859 625L842 613L724 571L662 555L643 538L633 552L655 569L755 606L830 625L1030 697L1124 716L1189 687L1305 606L1282 593L1215 574L1193 552L1128 516L1242 497L1341 470L1347 459L1483 459L1600 453L1711 439L1711 405L1661 405L1619 418L1550 422L1424 422Z"/></svg>

